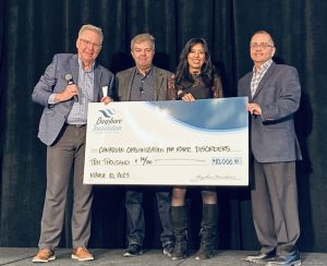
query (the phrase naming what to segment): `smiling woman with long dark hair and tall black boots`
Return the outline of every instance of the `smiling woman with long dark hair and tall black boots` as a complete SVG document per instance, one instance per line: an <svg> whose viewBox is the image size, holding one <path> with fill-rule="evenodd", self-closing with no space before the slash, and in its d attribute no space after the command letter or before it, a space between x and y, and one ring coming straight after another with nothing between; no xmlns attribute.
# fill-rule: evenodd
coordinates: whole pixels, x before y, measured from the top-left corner
<svg viewBox="0 0 327 266"><path fill-rule="evenodd" d="M208 46L203 38L190 39L180 56L170 98L184 101L222 97L219 75L213 65ZM196 259L206 259L214 255L217 231L217 193L216 188L202 186L201 245ZM187 214L185 208L185 186L172 190L171 216L175 237L172 259L187 255Z"/></svg>

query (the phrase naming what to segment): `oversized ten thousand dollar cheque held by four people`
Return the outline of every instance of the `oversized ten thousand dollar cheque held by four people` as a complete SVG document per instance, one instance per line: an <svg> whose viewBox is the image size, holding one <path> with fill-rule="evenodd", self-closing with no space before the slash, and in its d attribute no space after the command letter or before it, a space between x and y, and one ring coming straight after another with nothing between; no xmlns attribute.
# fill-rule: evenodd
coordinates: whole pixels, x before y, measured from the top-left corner
<svg viewBox="0 0 327 266"><path fill-rule="evenodd" d="M89 104L84 183L247 185L247 98Z"/></svg>

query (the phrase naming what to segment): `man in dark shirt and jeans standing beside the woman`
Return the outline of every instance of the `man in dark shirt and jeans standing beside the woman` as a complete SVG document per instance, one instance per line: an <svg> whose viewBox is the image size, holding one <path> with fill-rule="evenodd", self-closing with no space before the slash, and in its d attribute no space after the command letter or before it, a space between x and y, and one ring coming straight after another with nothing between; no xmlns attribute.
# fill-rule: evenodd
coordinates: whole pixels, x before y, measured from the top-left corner
<svg viewBox="0 0 327 266"><path fill-rule="evenodd" d="M135 36L131 41L131 53L135 66L117 73L116 89L120 101L167 100L168 84L172 73L153 65L155 38L149 34ZM155 178L155 177L154 177ZM129 247L123 256L142 254L145 235L142 188L128 188L125 208L128 216ZM159 218L162 226L160 234L164 254L173 251L173 232L170 218L171 188L156 190Z"/></svg>

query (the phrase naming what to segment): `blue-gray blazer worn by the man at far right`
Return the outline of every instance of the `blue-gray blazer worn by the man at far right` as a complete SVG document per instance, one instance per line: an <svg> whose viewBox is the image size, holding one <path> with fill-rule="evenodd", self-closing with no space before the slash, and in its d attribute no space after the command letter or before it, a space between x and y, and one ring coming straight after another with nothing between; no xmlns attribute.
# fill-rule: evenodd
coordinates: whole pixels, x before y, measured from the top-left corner
<svg viewBox="0 0 327 266"><path fill-rule="evenodd" d="M251 116L251 149L259 162L302 159L293 114L299 109L301 86L295 68L272 63L251 96L253 72L239 81L239 96L261 106L263 116Z"/></svg>

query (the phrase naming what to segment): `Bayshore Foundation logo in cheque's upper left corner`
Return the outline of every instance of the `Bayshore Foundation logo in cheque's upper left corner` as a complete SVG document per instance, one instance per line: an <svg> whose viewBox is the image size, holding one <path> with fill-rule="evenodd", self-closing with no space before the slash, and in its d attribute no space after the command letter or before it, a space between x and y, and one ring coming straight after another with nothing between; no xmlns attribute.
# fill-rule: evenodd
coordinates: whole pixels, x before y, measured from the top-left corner
<svg viewBox="0 0 327 266"><path fill-rule="evenodd" d="M119 132L122 129L122 119L116 118L117 113L113 108L98 110L97 118L93 131L94 132Z"/></svg>

